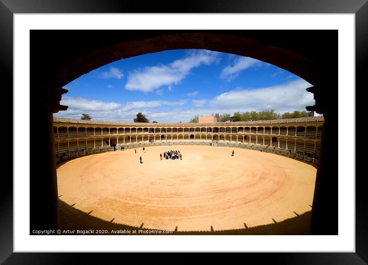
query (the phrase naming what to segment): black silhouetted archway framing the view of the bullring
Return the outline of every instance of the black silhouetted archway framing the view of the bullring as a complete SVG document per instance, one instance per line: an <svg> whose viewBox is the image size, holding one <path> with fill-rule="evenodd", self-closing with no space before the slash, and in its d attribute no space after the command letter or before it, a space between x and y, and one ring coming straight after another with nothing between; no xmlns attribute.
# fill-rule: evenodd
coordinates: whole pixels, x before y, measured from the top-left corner
<svg viewBox="0 0 368 265"><path fill-rule="evenodd" d="M290 23L292 23L290 21ZM62 87L122 58L170 49L208 49L271 63L313 85L323 113L312 234L337 234L336 137L330 124L337 108L337 30L31 30L30 33L30 228L58 228L58 192L52 113Z"/></svg>

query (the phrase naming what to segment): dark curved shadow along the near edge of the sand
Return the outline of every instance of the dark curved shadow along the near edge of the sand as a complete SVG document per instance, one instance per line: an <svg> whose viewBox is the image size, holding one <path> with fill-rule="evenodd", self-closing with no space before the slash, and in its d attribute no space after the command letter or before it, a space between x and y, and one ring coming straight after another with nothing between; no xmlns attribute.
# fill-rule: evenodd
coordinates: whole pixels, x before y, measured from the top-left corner
<svg viewBox="0 0 368 265"><path fill-rule="evenodd" d="M148 233L155 229L143 228L143 223L140 227L114 223L114 219L106 221L91 216L91 212L85 213L80 211L59 199L60 229L107 230L109 235L115 235L111 233L112 230L140 230L143 232L131 235L157 235L157 233ZM311 211L280 222L254 227L248 227L247 224L244 223L244 228L221 231L216 231L216 228L212 228L211 224L208 225L208 231L180 231L180 228L173 225L173 233L160 235L309 235L310 217ZM144 233L144 231L146 233ZM117 235L121 235L121 233Z"/></svg>

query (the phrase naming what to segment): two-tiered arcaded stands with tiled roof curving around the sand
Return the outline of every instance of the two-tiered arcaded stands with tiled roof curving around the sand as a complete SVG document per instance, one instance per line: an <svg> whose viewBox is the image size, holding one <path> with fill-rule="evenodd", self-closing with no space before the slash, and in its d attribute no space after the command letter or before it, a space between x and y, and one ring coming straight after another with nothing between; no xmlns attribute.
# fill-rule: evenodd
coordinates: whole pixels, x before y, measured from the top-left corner
<svg viewBox="0 0 368 265"><path fill-rule="evenodd" d="M223 123L124 123L53 118L57 163L84 155L151 145L252 148L317 165L324 118Z"/></svg>

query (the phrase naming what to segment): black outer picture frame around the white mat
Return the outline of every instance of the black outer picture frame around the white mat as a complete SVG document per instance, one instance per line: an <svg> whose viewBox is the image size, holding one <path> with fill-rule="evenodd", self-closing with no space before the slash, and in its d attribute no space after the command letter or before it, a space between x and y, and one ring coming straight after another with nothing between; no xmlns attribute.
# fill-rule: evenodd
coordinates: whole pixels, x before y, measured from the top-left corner
<svg viewBox="0 0 368 265"><path fill-rule="evenodd" d="M13 14L16 13L354 13L356 26L356 91L362 90L368 83L367 68L368 49L368 3L366 0L345 1L196 1L195 4L174 5L174 2L151 2L142 5L139 2L121 2L118 0L87 2L57 1L57 0L2 0L0 2L0 72L3 75L4 87L7 88L8 97L12 98L13 87ZM357 106L363 104L363 97L357 97ZM9 100L10 101L10 100ZM12 102L12 101L10 101ZM356 120L362 115L356 111ZM8 117L12 124L12 119ZM9 138L2 131L3 139ZM357 132L356 137L363 137ZM6 137L6 138L5 138ZM13 139L14 142L14 139ZM358 150L358 149L357 149ZM5 157L5 164L12 161L12 152ZM356 154L356 157L358 155ZM357 166L358 169L358 166ZM365 264L368 263L368 207L365 203L364 177L356 173L356 252L355 253L247 253L246 259L257 262L272 262L277 264ZM84 263L93 260L98 263L95 254L66 254L66 253L13 253L13 181L10 174L3 175L4 184L0 192L0 262L4 264L64 264L73 263L76 258L82 257ZM119 255L119 254L114 254ZM126 254L125 254L126 255ZM130 254L134 255L134 254ZM154 254L155 255L155 254ZM220 261L216 255L213 257ZM126 258L126 257L125 257ZM133 257L134 258L134 257ZM150 258L152 259L152 257ZM191 255L180 256L179 262L192 260ZM242 257L244 259L244 257ZM162 261L162 259L161 259ZM170 261L169 261L170 262ZM161 262L162 263L162 262Z"/></svg>

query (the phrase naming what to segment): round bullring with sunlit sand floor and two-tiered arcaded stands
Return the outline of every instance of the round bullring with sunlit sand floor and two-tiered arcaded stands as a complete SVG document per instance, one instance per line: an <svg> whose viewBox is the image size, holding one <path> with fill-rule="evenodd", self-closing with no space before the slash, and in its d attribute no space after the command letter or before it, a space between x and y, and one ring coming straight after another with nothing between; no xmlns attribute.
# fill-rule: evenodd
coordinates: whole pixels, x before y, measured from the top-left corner
<svg viewBox="0 0 368 265"><path fill-rule="evenodd" d="M54 118L59 199L145 229L282 222L311 210L322 127L323 117L169 126ZM182 160L161 160L169 150Z"/></svg>

